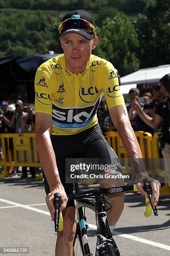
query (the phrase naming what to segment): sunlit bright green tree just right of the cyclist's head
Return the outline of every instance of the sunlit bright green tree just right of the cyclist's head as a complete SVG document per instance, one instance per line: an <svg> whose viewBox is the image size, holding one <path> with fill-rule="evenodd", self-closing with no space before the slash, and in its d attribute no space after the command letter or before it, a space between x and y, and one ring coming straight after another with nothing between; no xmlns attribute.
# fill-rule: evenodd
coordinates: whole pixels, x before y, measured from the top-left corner
<svg viewBox="0 0 170 256"><path fill-rule="evenodd" d="M121 75L138 70L139 60L135 54L139 46L138 35L125 14L106 18L102 27L97 28L97 35L96 55L109 60Z"/></svg>

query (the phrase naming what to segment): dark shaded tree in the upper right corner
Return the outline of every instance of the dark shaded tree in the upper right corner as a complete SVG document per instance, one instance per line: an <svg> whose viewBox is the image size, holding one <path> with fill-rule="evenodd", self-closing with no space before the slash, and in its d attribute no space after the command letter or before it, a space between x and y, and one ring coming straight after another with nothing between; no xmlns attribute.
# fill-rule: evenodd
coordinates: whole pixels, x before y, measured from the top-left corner
<svg viewBox="0 0 170 256"><path fill-rule="evenodd" d="M156 0L139 14L137 32L140 41L140 67L170 64L170 2Z"/></svg>

